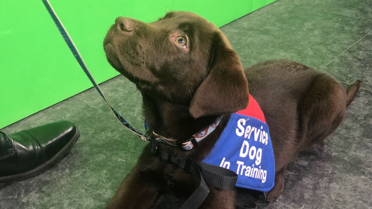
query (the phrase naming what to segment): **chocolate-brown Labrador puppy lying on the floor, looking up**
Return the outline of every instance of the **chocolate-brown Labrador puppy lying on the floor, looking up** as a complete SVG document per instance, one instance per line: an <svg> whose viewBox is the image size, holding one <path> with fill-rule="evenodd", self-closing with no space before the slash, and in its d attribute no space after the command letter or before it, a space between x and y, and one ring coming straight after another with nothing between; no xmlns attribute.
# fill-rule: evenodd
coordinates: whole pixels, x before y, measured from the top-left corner
<svg viewBox="0 0 372 209"><path fill-rule="evenodd" d="M191 151L159 144L178 159L202 160L228 116L247 107L250 93L264 113L274 149L270 202L283 192L291 159L334 132L359 90L360 81L345 90L330 75L288 60L270 60L244 71L224 34L190 12L169 12L151 23L118 17L103 46L112 67L141 91L151 131L186 140L224 116ZM107 208L149 208L164 190L190 195L196 189L195 176L160 161L150 149L144 148ZM235 191L209 187L200 208L234 208Z"/></svg>

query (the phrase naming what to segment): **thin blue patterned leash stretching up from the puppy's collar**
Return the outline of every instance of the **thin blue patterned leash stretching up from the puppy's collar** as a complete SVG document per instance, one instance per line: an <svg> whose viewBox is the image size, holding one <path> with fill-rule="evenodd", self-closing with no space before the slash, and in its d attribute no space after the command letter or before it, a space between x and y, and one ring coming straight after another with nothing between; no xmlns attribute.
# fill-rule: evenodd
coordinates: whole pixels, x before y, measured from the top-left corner
<svg viewBox="0 0 372 209"><path fill-rule="evenodd" d="M45 7L47 8L47 10L49 12L49 15L52 17L55 25L57 26L58 30L60 31L60 33L62 35L62 38L65 40L68 48L70 48L71 52L73 53L75 59L77 60L77 62L80 65L80 67L84 70L84 73L87 74L90 82L92 82L94 88L96 88L96 90L101 95L101 97L103 98L103 100L105 100L105 102L107 103L107 105L110 107L110 109L112 110L112 112L115 114L116 118L118 118L118 120L126 128L128 128L130 131L132 131L135 134L137 134L142 140L145 140L145 141L148 142L149 141L149 138L146 135L143 135L141 132L136 131L118 112L116 112L115 109L113 109L111 107L111 105L109 104L109 102L106 99L105 95L103 95L103 93L102 93L101 89L99 88L98 84L96 83L96 81L92 77L92 74L90 74L87 66L84 63L83 58L81 58L81 55L80 55L79 51L77 50L74 42L72 41L70 35L68 35L67 30L63 26L61 20L57 16L57 14L54 12L54 10L53 10L52 6L50 5L49 1L48 0L42 0L42 2L44 3Z"/></svg>

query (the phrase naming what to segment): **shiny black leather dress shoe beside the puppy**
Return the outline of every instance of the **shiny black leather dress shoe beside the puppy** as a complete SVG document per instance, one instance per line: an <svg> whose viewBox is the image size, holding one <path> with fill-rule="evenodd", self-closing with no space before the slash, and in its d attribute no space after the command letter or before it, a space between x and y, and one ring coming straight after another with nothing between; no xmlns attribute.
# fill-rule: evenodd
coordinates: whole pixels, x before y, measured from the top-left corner
<svg viewBox="0 0 372 209"><path fill-rule="evenodd" d="M26 179L63 157L79 138L69 121L58 121L6 135L0 132L0 182Z"/></svg>

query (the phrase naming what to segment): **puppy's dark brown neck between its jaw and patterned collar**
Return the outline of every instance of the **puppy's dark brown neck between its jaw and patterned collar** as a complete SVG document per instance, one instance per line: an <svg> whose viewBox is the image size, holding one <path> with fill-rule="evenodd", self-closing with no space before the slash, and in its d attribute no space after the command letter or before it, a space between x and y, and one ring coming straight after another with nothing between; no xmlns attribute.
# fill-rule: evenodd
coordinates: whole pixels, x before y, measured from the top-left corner
<svg viewBox="0 0 372 209"><path fill-rule="evenodd" d="M173 139L188 139L217 119L217 116L194 119L189 113L189 106L176 105L146 94L143 95L143 109L150 129Z"/></svg>

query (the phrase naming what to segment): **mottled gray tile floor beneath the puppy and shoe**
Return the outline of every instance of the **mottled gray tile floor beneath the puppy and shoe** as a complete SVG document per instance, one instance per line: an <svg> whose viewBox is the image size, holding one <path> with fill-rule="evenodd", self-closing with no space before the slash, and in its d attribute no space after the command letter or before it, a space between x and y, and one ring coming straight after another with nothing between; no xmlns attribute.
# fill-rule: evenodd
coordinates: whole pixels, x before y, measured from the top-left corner
<svg viewBox="0 0 372 209"><path fill-rule="evenodd" d="M285 192L267 208L372 207L372 1L278 0L224 27L248 67L286 58L362 89L341 126L288 167ZM101 85L112 106L142 129L141 97L124 77ZM81 136L71 152L39 176L0 183L0 208L103 208L129 173L144 142L116 121L90 89L1 131L60 119Z"/></svg>

